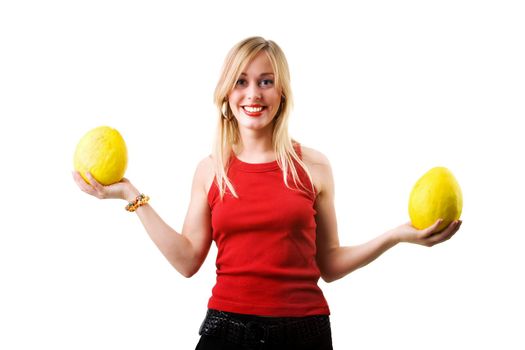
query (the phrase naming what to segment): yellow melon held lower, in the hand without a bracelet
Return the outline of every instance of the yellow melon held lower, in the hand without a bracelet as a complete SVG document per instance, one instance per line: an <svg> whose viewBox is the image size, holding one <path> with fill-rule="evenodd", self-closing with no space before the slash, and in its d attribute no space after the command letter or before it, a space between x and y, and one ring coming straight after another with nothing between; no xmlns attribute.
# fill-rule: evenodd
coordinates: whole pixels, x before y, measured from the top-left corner
<svg viewBox="0 0 525 350"><path fill-rule="evenodd" d="M450 170L435 167L425 173L410 193L408 213L417 229L431 226L443 219L438 231L459 219L463 209L461 188Z"/></svg>

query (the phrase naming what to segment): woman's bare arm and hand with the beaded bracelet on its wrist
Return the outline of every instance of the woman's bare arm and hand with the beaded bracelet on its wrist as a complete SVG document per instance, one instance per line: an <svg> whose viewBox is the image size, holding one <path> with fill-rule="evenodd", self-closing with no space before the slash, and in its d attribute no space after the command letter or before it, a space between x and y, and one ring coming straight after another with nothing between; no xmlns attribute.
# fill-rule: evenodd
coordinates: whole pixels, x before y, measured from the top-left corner
<svg viewBox="0 0 525 350"><path fill-rule="evenodd" d="M92 185L87 184L78 173L74 173L73 177L82 191L100 199L119 198L131 201L139 194L127 179L103 186L90 175L88 178ZM162 254L185 277L191 277L199 270L211 246L210 210L207 202L210 177L212 181L211 161L204 159L195 171L191 201L181 233L166 224L149 204L135 211Z"/></svg>

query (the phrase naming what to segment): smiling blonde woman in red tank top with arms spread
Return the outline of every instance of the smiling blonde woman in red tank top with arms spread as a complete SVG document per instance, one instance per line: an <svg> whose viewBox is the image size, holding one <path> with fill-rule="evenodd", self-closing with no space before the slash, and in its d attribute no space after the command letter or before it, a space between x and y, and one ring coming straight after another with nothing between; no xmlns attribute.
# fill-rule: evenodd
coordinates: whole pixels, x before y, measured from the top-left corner
<svg viewBox="0 0 525 350"><path fill-rule="evenodd" d="M461 222L436 232L410 223L341 247L328 160L288 135L292 105L288 64L273 41L245 39L226 57L215 90L218 128L211 156L194 175L181 233L127 179L102 186L75 181L98 198L129 201L151 239L186 277L218 247L217 283L197 349L332 349L320 277L335 281L399 242L432 246Z"/></svg>

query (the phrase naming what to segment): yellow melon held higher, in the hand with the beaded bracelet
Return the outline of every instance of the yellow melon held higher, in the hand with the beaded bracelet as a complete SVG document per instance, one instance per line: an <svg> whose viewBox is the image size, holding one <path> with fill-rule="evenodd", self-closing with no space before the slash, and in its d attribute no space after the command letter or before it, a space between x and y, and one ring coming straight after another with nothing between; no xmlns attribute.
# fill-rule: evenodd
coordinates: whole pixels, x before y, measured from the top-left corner
<svg viewBox="0 0 525 350"><path fill-rule="evenodd" d="M87 183L87 172L103 185L119 182L128 165L126 143L116 129L109 126L94 128L78 142L73 165Z"/></svg>

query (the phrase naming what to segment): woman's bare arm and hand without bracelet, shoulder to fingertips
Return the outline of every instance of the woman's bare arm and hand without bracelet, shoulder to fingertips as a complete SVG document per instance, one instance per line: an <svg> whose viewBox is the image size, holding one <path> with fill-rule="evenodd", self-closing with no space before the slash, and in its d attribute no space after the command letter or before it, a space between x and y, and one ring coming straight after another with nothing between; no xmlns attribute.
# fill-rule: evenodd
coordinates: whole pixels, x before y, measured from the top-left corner
<svg viewBox="0 0 525 350"><path fill-rule="evenodd" d="M454 221L441 232L435 230L439 220L429 228L417 230L410 223L389 230L376 238L355 246L341 247L334 208L334 181L326 157L313 150L305 150L305 162L311 170L318 190L315 209L317 211L317 264L321 277L332 282L350 272L368 265L388 249L400 242L433 246L450 239L461 222Z"/></svg>

